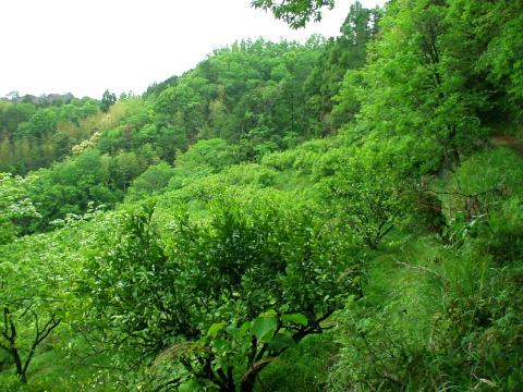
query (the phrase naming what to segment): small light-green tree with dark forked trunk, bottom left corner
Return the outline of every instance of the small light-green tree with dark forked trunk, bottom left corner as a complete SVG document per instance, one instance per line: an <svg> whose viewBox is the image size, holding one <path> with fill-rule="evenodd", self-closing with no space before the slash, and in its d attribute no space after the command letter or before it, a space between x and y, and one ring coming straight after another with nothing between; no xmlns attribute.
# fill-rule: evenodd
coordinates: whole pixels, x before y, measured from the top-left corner
<svg viewBox="0 0 523 392"><path fill-rule="evenodd" d="M46 350L47 340L64 320L73 322L86 304L72 289L81 252L90 245L88 230L78 235L68 223L0 247L0 351L10 357L20 381L27 382L33 359Z"/></svg>

